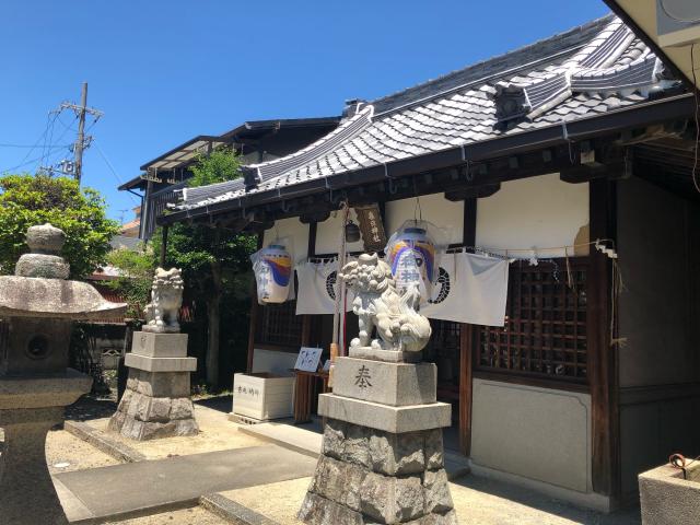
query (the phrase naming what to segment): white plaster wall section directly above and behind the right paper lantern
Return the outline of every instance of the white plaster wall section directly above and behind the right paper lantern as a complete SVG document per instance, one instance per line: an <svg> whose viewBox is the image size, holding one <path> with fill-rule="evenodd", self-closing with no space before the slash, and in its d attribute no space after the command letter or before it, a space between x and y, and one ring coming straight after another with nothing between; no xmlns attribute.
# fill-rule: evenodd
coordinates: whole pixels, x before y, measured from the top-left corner
<svg viewBox="0 0 700 525"><path fill-rule="evenodd" d="M444 230L448 244L462 243L464 202L445 199L444 194L424 195L420 198L423 220ZM392 236L405 221L417 217L416 199L394 200L386 203L386 236Z"/></svg>

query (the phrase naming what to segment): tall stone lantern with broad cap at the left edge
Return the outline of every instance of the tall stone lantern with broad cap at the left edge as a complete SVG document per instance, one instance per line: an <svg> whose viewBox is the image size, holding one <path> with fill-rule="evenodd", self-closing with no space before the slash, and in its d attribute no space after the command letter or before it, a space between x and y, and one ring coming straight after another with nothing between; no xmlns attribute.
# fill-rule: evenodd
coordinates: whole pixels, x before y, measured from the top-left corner
<svg viewBox="0 0 700 525"><path fill-rule="evenodd" d="M69 281L61 230L32 226L14 276L0 277L0 522L67 524L46 464L46 434L63 409L90 392L92 378L68 369L73 320L114 316L126 304L105 301Z"/></svg>

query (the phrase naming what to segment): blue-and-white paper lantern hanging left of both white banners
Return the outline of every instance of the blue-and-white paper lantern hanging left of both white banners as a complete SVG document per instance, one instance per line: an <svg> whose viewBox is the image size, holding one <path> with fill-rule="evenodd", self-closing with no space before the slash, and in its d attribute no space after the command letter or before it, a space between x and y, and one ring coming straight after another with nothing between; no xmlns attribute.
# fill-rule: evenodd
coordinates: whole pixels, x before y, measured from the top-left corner
<svg viewBox="0 0 700 525"><path fill-rule="evenodd" d="M289 298L292 256L281 244L271 244L257 254L253 265L259 303L283 303Z"/></svg>

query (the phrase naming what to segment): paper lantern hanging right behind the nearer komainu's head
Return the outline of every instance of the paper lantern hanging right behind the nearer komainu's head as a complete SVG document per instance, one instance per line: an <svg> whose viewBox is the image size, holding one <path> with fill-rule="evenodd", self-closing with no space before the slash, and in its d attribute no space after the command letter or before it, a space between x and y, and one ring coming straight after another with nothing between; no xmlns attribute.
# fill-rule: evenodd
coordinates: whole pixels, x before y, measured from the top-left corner
<svg viewBox="0 0 700 525"><path fill-rule="evenodd" d="M421 298L430 296L435 271L435 244L424 229L405 228L399 231L388 246L387 257L400 293L416 284Z"/></svg>

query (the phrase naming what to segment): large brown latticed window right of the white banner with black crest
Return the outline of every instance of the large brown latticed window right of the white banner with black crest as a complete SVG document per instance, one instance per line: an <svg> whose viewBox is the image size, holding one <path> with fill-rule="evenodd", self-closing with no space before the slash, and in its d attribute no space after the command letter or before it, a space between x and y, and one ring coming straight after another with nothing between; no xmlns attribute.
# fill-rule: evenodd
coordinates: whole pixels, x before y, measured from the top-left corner
<svg viewBox="0 0 700 525"><path fill-rule="evenodd" d="M477 370L586 382L587 258L511 265L505 326L477 329Z"/></svg>

